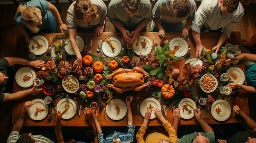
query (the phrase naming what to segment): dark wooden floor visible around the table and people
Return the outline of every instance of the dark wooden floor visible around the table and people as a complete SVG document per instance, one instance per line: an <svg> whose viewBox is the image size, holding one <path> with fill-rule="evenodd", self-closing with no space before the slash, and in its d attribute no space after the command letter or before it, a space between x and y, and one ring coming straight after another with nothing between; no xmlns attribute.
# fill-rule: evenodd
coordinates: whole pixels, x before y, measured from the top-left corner
<svg viewBox="0 0 256 143"><path fill-rule="evenodd" d="M66 13L69 3L61 3L61 17L66 23ZM26 47L23 35L17 29L14 22L16 7L13 4L0 5L0 57L23 57L27 58L27 53L23 50ZM250 37L256 35L256 4L244 6L245 14L242 19L244 39L250 40ZM59 30L59 29L58 29ZM252 101L252 100L251 100ZM255 101L255 100L253 100ZM252 103L254 104L254 103ZM255 108L250 105L250 108ZM0 143L6 142L10 134L12 102L0 104ZM255 119L255 113L250 112Z"/></svg>

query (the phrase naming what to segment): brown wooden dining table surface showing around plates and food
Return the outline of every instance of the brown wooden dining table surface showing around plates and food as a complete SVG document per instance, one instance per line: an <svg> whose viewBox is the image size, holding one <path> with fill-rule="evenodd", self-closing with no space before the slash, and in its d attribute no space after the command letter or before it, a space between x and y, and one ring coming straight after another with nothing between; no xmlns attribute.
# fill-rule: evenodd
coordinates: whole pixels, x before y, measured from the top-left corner
<svg viewBox="0 0 256 143"><path fill-rule="evenodd" d="M51 34L41 34L42 36L46 37L46 39L49 40L49 38L53 38L55 37L57 34L61 34L61 33L51 33ZM166 40L171 41L173 38L175 37L181 37L181 33L165 33L166 34ZM112 33L112 32L104 32L102 33L102 35L100 36L95 36L95 33L77 33L78 36L82 37L82 39L85 42L85 39L87 39L87 46L90 46L90 41L92 40L92 48L91 51L93 54L95 55L100 55L100 53L97 52L97 48L98 48L98 41L99 40L104 40L107 37L115 37L117 38L121 43L122 43L122 34L121 33ZM158 32L145 32L145 33L140 33L140 35L144 35L146 37L148 37L149 39L153 39L154 37L154 43L160 43L161 38L158 35ZM220 36L220 33L215 33L215 32L203 32L201 33L201 41L202 44L208 48L208 49L212 49L212 47L214 47L217 42L218 42L218 38ZM195 47L196 44L193 40L192 34L190 33L188 35L188 37L190 38L190 44L188 43L188 39L186 39L186 42L188 43L189 47L191 48L190 54L191 57L195 56ZM240 32L232 32L231 38L228 39L227 42L233 44L233 45L239 45L241 51L242 51L242 43L241 43L241 35ZM49 42L49 41L48 41ZM132 61L138 61L139 56L138 55L134 55ZM244 71L244 64L243 61L239 61L239 63L237 65L240 65L240 68ZM34 69L35 71L37 69ZM244 85L246 85L246 82L244 82ZM194 85L196 86L196 85ZM20 87L15 79L14 79L14 92L18 92L24 90L24 88ZM46 95L44 95L43 93L40 94L36 94L36 95L28 95L20 100L16 100L14 101L14 107L12 110L12 123L15 122L16 118L18 117L18 115L20 114L20 111L22 109L22 106L24 105L24 103L26 101L31 101L34 100L36 98L41 98L44 99ZM161 97L163 98L163 97ZM222 98L226 98L226 96L222 96ZM82 100L82 99L80 99ZM160 101L160 99L158 99ZM247 93L246 92L241 92L240 93L240 97L239 97L239 107L241 108L241 110L246 114L249 115L249 110L248 110L248 99L247 99ZM59 99L56 99L56 104L58 103ZM75 101L77 102L77 101ZM124 101L125 102L125 101ZM141 114L139 114L139 118L137 120L137 106L135 103L135 100L132 101L131 103L131 108L132 108L132 115L133 115L133 124L136 126L140 126L143 123L143 116ZM85 107L89 107L90 103L85 102L84 104ZM104 104L104 106L106 106L106 104ZM172 109L167 106L167 117L165 117L170 123L173 123L173 116L172 116ZM97 108L98 111L98 121L100 123L101 126L126 126L128 121L127 121L127 115L124 116L124 118L120 119L120 120L112 120L110 119L107 115L106 115L106 111L102 110L102 108ZM105 112L105 113L104 113ZM105 114L105 118L103 117ZM233 116L232 114L230 115L230 117L226 120L226 121L217 121L216 119L214 119L211 115L211 112L208 113L209 114L209 118L208 119L204 119L204 121L208 124L218 124L218 123L237 123L237 122L242 122L242 119L239 116ZM44 118L40 121L35 121L33 119L31 119L29 116L27 116L24 119L24 126L55 126L56 124L56 117L53 116L52 120L48 121L47 118ZM195 125L198 124L198 121L196 120L195 117L191 118L191 119L180 119L180 123L179 125ZM82 114L80 117L79 116L75 116L72 117L71 119L63 119L62 120L62 125L64 126L90 126L90 124L86 121L86 116L85 114ZM156 126L156 125L161 125L161 122L157 119L150 119L149 126Z"/></svg>

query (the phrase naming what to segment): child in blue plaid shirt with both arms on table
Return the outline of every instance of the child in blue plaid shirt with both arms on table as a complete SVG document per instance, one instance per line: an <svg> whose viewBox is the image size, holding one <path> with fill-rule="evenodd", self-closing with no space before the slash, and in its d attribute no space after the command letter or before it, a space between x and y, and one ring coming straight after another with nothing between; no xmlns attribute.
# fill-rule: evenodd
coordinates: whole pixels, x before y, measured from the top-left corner
<svg viewBox="0 0 256 143"><path fill-rule="evenodd" d="M92 116L93 116L94 123L96 125L96 129L98 132L99 143L133 143L135 125L132 125L132 110L131 110L131 106L130 106L130 103L132 102L132 100L133 100L133 96L126 97L127 119L128 119L127 133L114 131L110 135L107 135L106 139L104 139L104 137L103 137L104 135L102 133L100 123L97 120L98 112L96 110L93 111Z"/></svg>

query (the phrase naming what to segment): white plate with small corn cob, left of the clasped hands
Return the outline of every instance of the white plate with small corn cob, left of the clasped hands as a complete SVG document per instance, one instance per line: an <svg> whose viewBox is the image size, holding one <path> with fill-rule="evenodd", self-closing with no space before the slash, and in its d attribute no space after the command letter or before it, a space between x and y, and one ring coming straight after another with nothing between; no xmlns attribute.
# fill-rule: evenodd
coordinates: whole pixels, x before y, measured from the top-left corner
<svg viewBox="0 0 256 143"><path fill-rule="evenodd" d="M113 51L110 45L106 42L106 40L104 40L102 43L102 51L108 57L116 57L121 52L121 42L114 37L110 37L109 39L112 43L114 43L116 50Z"/></svg>

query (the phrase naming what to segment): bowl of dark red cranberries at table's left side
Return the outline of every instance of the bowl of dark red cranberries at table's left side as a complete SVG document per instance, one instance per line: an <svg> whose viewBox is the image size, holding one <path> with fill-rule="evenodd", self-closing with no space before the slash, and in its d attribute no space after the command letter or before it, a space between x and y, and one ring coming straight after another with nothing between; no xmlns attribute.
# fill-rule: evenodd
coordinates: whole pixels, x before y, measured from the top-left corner
<svg viewBox="0 0 256 143"><path fill-rule="evenodd" d="M53 95L57 91L57 84L53 80L46 80L42 86L42 90L46 95Z"/></svg>

